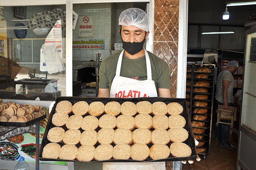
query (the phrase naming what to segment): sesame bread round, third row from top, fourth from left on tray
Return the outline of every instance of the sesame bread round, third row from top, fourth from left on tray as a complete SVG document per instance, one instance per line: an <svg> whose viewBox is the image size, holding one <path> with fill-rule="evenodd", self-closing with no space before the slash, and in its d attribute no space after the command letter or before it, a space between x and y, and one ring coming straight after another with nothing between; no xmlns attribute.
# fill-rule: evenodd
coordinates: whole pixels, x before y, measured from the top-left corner
<svg viewBox="0 0 256 170"><path fill-rule="evenodd" d="M97 132L97 141L100 144L111 144L114 141L115 130L112 128L102 128Z"/></svg>

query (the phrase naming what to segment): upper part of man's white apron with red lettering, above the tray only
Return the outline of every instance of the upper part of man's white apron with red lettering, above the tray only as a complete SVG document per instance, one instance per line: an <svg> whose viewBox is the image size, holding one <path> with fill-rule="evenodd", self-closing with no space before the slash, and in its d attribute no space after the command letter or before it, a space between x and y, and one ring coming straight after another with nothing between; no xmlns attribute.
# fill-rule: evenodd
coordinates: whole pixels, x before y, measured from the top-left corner
<svg viewBox="0 0 256 170"><path fill-rule="evenodd" d="M145 50L145 49L144 49ZM123 50L124 51L124 50ZM156 86L152 80L150 59L145 50L147 79L136 80L120 76L123 51L119 55L116 66L116 76L113 79L110 97L111 98L141 98L141 97L157 97Z"/></svg>

